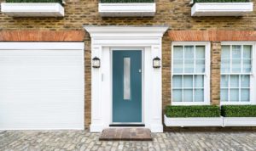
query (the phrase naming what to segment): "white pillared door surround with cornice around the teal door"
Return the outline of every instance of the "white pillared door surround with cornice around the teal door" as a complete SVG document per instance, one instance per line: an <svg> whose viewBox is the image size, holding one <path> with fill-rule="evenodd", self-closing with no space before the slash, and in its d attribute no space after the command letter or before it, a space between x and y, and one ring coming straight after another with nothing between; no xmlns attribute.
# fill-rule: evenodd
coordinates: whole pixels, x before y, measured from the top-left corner
<svg viewBox="0 0 256 151"><path fill-rule="evenodd" d="M112 113L112 48L143 48L144 50L144 124L153 132L162 132L161 68L153 68L153 59L161 59L162 36L166 26L84 26L91 37L91 59L101 59L101 67L91 68L90 131L107 128Z"/></svg>

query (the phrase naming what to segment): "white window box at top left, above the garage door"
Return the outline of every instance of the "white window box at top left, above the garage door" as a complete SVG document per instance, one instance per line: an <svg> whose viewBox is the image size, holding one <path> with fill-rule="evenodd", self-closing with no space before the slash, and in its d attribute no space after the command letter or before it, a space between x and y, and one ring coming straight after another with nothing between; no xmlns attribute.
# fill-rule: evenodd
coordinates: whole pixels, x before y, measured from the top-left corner
<svg viewBox="0 0 256 151"><path fill-rule="evenodd" d="M14 17L62 17L60 3L1 3L1 11Z"/></svg>

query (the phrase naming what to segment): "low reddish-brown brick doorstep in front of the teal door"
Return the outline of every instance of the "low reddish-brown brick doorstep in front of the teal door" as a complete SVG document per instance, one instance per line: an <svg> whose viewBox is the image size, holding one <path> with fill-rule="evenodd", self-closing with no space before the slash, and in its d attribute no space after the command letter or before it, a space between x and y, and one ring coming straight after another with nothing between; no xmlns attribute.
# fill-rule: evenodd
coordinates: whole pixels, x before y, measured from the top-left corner
<svg viewBox="0 0 256 151"><path fill-rule="evenodd" d="M108 128L102 131L100 141L152 141L148 128Z"/></svg>

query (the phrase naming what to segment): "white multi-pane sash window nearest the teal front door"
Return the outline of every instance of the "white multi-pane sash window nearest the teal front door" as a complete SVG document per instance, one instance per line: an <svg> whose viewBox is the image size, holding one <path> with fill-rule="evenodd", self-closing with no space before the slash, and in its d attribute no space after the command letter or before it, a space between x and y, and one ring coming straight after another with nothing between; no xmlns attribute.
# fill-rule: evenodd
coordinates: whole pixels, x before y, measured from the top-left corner
<svg viewBox="0 0 256 151"><path fill-rule="evenodd" d="M209 42L172 43L172 104L209 104Z"/></svg>

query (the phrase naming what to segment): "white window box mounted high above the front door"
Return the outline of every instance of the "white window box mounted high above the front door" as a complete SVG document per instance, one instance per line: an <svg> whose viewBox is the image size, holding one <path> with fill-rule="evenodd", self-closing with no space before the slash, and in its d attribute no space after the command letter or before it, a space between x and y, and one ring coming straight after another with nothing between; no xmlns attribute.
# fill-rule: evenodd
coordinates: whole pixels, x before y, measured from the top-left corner
<svg viewBox="0 0 256 151"><path fill-rule="evenodd" d="M102 17L154 16L155 3L99 3Z"/></svg>

